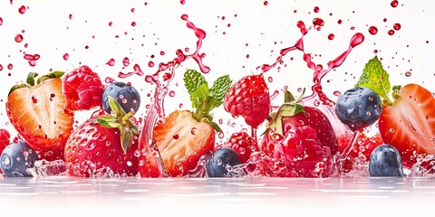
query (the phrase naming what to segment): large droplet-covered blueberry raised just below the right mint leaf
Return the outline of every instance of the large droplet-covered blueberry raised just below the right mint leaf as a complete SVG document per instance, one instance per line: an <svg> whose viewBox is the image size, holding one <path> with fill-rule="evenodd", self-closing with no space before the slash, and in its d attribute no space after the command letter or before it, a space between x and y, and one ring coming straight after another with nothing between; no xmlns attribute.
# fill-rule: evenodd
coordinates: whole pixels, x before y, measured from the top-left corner
<svg viewBox="0 0 435 217"><path fill-rule="evenodd" d="M337 117L353 131L372 125L381 112L381 98L368 88L345 91L335 105Z"/></svg>

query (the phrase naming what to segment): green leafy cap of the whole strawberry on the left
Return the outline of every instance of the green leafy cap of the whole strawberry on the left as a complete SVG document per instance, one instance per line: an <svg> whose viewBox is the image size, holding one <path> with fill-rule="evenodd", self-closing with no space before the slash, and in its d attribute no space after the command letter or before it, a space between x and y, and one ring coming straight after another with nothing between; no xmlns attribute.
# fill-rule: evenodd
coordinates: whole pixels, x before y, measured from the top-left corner
<svg viewBox="0 0 435 217"><path fill-rule="evenodd" d="M134 135L139 134L138 127L131 121L134 112L126 113L121 108L120 103L112 97L109 97L109 106L111 107L111 115L103 115L96 119L102 127L118 128L121 132L122 150L127 152L131 146Z"/></svg>

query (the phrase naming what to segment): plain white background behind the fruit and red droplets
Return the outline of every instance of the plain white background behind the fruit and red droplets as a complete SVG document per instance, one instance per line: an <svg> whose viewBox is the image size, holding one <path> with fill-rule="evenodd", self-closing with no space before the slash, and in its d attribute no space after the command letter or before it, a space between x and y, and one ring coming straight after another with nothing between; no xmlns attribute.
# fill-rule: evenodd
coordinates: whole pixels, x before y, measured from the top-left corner
<svg viewBox="0 0 435 217"><path fill-rule="evenodd" d="M186 0L182 5L177 0L14 0L11 4L9 0L0 0L0 17L3 19L0 25L0 64L4 68L0 71L0 127L6 127L15 134L8 124L5 101L10 87L25 80L29 71L40 74L50 70L72 71L82 64L89 65L102 80L111 77L131 81L140 90L142 106L139 113L143 115L145 105L150 103L146 94L154 90L154 86L146 83L144 77L120 79L117 74L119 71L133 71L134 64L139 64L145 74L151 74L157 71L160 62L173 60L177 49L189 47L193 52L197 38L186 27L186 22L180 19L181 14L188 14L189 20L207 33L201 52L207 54L204 63L211 71L205 76L210 83L223 74L230 74L232 80L238 80L250 73L258 73L257 66L273 63L280 49L293 46L300 38L297 21L311 26L313 19L318 17L324 19L325 24L320 31L308 33L304 45L305 51L312 53L313 61L324 67L327 61L347 49L354 33L365 35L365 41L353 49L343 65L324 78L324 90L331 99L337 98L333 95L334 90L343 92L353 87L365 62L375 55L374 50L378 50L376 54L389 71L392 84L417 82L433 92L435 3L430 0L399 1L396 8L390 3L388 0L269 0L265 5L263 0ZM18 13L22 5L28 7L25 14ZM319 13L314 13L314 6L320 8ZM73 15L71 20L69 14ZM337 24L338 20L343 23ZM112 26L109 26L110 22ZM136 26L132 26L131 22L136 22ZM388 30L396 23L401 24L401 30L389 35ZM368 33L372 25L379 30L376 35ZM23 30L24 41L14 42L14 36ZM329 33L335 35L332 41L327 38ZM86 45L89 49L85 49ZM165 55L160 55L160 51ZM24 60L24 52L41 55L36 66L31 67ZM68 61L63 60L64 53L69 53ZM152 54L154 58L151 58ZM131 61L125 69L122 65L124 57ZM290 61L291 57L294 57L293 61ZM111 58L116 61L113 67L105 64ZM156 66L150 68L149 61ZM281 92L285 86L293 92L310 87L313 73L305 66L302 53L291 52L284 61L287 66L284 68L281 65L283 69L280 72L273 70L266 73L266 78L273 78L268 84L270 91ZM14 65L13 70L7 69L9 63ZM187 68L198 70L198 65L189 60L179 68L170 86L176 95L166 98L167 113L179 109L180 103L184 105L182 109L190 109L182 83L182 74ZM411 71L410 77L405 76L406 71ZM176 83L179 83L178 87ZM281 98L280 93L274 100L275 105ZM88 115L87 112L79 112L76 117L82 121ZM236 127L229 127L228 122L230 124L234 120L222 107L215 110L215 115L223 119L221 127L225 132L245 127L241 119L236 120Z"/></svg>

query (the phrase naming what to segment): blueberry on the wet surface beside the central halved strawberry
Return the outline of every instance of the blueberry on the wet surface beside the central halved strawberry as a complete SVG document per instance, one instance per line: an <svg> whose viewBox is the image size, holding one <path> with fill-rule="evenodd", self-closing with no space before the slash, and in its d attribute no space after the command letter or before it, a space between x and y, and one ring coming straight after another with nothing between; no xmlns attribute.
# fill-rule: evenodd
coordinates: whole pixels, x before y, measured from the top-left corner
<svg viewBox="0 0 435 217"><path fill-rule="evenodd" d="M236 151L231 148L222 147L213 153L213 156L208 159L206 170L208 177L227 177L227 166L240 165L242 161L240 156L237 156Z"/></svg>

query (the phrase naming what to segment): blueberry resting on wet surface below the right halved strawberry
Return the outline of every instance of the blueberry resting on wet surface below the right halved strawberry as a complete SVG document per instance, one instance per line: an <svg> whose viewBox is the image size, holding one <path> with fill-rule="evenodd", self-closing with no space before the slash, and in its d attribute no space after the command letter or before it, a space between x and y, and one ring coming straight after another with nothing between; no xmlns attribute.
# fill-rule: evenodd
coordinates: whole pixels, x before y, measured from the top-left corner
<svg viewBox="0 0 435 217"><path fill-rule="evenodd" d="M373 149L369 163L370 176L403 176L403 165L399 151L384 144Z"/></svg>

